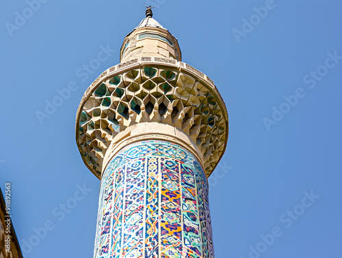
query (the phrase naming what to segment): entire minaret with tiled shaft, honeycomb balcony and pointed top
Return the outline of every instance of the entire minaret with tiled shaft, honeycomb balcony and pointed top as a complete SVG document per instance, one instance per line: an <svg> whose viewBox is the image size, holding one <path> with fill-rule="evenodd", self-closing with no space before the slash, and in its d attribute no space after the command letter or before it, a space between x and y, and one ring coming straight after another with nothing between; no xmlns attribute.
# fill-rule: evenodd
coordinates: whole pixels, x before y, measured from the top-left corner
<svg viewBox="0 0 342 258"><path fill-rule="evenodd" d="M226 149L226 106L152 16L77 110L77 146L101 179L94 257L214 257L207 177Z"/></svg>

